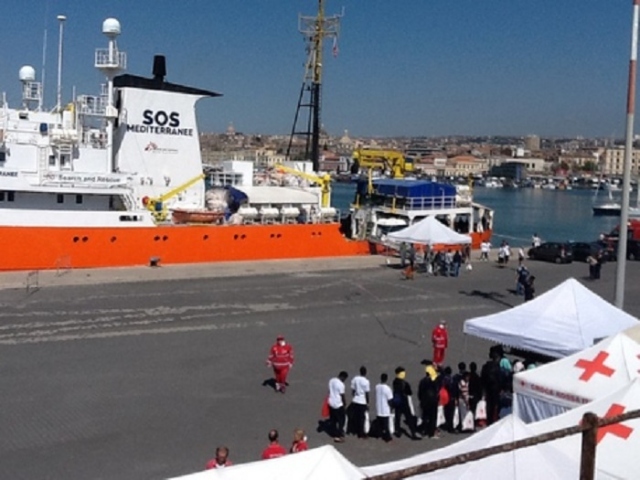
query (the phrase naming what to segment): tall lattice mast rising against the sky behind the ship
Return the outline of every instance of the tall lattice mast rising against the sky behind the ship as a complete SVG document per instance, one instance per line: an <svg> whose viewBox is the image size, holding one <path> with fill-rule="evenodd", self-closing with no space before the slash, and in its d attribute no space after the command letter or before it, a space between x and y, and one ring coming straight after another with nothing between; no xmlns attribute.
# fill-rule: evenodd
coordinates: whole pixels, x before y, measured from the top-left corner
<svg viewBox="0 0 640 480"><path fill-rule="evenodd" d="M307 63L305 65L305 74L300 89L300 97L298 98L298 107L291 129L289 138L289 146L287 147L287 158L290 158L291 147L294 137L302 135L306 138L305 142L305 159L310 159L313 164L313 170L317 172L320 169L320 107L322 100L322 54L325 37L332 38L335 46L340 32L341 15L333 15L326 17L324 14L324 0L318 0L318 15L316 17L307 17L300 15L298 21L298 30L305 37L307 43ZM305 99L307 93L307 99ZM309 109L306 130L297 130L298 119L302 108Z"/></svg>

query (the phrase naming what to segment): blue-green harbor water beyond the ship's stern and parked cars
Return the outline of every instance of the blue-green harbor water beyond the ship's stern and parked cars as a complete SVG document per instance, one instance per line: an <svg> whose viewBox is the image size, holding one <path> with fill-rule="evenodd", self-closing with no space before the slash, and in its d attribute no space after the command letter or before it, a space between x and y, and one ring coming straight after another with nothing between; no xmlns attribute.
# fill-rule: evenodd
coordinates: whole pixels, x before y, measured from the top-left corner
<svg viewBox="0 0 640 480"><path fill-rule="evenodd" d="M333 204L347 212L354 193L353 184L335 184ZM594 241L601 233L615 228L620 220L593 215L592 190L476 187L473 198L495 211L494 245L506 240L512 246L529 246L534 233L543 241ZM635 203L635 194L631 200Z"/></svg>

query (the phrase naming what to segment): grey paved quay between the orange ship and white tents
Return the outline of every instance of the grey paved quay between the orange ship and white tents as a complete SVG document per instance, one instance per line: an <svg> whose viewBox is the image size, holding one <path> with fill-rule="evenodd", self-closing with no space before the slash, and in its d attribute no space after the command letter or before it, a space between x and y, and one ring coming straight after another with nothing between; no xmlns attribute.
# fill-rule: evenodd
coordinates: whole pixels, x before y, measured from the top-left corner
<svg viewBox="0 0 640 480"><path fill-rule="evenodd" d="M402 280L385 257L243 262L0 275L0 478L160 479L202 470L217 445L234 463L260 458L270 428L288 448L295 427L311 447L327 382L366 365L372 385L402 365L415 388L430 331L448 321L446 361L487 358L464 320L522 302L515 262L474 262L458 278ZM615 265L585 280L584 263L530 262L541 294L575 277L613 299ZM640 263L627 267L625 309L640 316ZM277 334L294 346L290 387L263 382ZM348 390L348 389L347 389ZM349 398L350 395L347 395ZM357 465L457 441L390 444L348 437Z"/></svg>

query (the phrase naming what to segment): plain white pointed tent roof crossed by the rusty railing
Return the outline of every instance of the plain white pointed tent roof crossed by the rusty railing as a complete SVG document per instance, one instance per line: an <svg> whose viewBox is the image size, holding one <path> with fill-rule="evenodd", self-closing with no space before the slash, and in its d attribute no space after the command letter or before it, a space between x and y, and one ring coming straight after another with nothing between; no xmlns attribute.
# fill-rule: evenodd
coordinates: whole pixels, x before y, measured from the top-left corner
<svg viewBox="0 0 640 480"><path fill-rule="evenodd" d="M502 419L494 425L467 437L448 447L422 453L395 462L363 467L367 475L379 475L402 468L423 465L481 448L487 448L532 436L528 425L514 415ZM423 440L431 442L432 440ZM523 448L513 452L501 453L483 460L456 465L428 474L415 475L412 479L451 479L475 480L537 480L544 472L545 480L578 478L579 465L576 457L566 456L550 445Z"/></svg>

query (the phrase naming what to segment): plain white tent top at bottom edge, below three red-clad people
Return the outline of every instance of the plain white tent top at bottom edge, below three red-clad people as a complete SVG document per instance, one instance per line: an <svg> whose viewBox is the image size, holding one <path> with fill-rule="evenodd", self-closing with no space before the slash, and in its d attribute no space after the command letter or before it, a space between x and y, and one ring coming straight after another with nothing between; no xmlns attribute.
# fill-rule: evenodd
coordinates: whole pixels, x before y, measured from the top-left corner
<svg viewBox="0 0 640 480"><path fill-rule="evenodd" d="M233 465L176 477L174 480L362 480L365 474L333 446L272 460Z"/></svg>

